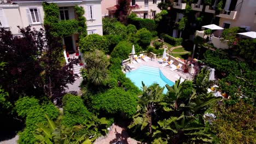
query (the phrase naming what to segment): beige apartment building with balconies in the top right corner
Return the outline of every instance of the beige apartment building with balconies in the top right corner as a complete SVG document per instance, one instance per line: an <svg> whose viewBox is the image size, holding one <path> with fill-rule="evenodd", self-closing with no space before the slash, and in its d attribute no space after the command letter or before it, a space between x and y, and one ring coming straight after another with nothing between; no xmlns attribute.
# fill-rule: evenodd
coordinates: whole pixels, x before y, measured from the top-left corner
<svg viewBox="0 0 256 144"><path fill-rule="evenodd" d="M218 0L214 2L214 5L206 5L205 13L215 14L214 7L218 3ZM224 3L224 9L220 11L219 27L231 28L241 27L246 31L256 31L256 1L255 0L226 0ZM203 5L199 0L196 4L191 4L193 10L203 11ZM211 24L211 23L209 23ZM214 37L212 38L212 44L220 49L228 49L226 41L221 38L222 30L214 31ZM203 31L197 31L196 35L203 37Z"/></svg>

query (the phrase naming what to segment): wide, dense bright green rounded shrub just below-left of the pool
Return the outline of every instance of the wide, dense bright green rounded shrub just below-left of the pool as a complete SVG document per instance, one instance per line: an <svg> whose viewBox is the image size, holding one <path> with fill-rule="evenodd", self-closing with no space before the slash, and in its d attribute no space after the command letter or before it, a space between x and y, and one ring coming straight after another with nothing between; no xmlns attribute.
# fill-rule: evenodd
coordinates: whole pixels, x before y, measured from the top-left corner
<svg viewBox="0 0 256 144"><path fill-rule="evenodd" d="M116 87L92 97L92 107L105 115L121 112L127 117L132 117L136 112L136 100L134 93L125 92L123 88Z"/></svg>

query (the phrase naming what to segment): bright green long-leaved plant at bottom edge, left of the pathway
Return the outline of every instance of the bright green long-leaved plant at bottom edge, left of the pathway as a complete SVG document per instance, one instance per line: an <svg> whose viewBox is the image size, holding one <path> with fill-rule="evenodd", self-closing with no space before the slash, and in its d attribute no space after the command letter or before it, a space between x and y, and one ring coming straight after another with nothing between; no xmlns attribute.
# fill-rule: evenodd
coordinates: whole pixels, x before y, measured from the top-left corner
<svg viewBox="0 0 256 144"><path fill-rule="evenodd" d="M61 125L59 121L54 122L51 120L47 114L45 114L45 117L48 124L37 124L38 128L33 133L34 137L36 137L38 140L38 143L90 144L94 142L98 136L97 126L108 123L106 118L101 118L97 119L97 122L91 121L91 123L86 124L85 126L75 125L72 128L66 128L65 126ZM87 133L83 135L75 135L75 132L81 129L85 129ZM105 132L106 131L107 130L105 130Z"/></svg>

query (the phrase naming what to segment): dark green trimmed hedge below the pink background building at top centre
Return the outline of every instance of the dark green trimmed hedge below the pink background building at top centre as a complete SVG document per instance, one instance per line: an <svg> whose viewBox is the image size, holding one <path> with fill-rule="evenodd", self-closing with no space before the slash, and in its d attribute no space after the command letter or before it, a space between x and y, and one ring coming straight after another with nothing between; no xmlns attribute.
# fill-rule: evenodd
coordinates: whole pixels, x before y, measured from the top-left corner
<svg viewBox="0 0 256 144"><path fill-rule="evenodd" d="M135 25L137 29L146 28L149 31L155 31L156 23L151 19L141 19L138 17L129 17L129 23Z"/></svg>

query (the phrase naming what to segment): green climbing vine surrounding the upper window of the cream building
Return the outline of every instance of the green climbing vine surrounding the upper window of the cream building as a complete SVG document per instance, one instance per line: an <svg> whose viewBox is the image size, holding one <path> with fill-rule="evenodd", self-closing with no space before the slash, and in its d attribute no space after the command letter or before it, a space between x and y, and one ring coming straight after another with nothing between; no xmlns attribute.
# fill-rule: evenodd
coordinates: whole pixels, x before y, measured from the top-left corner
<svg viewBox="0 0 256 144"><path fill-rule="evenodd" d="M78 32L85 36L86 31L86 19L84 15L83 7L75 5L74 11L77 14L77 20L60 20L60 10L54 3L43 3L44 9L44 25L50 26L50 33L54 37L65 37Z"/></svg>

